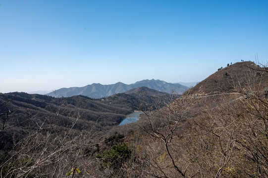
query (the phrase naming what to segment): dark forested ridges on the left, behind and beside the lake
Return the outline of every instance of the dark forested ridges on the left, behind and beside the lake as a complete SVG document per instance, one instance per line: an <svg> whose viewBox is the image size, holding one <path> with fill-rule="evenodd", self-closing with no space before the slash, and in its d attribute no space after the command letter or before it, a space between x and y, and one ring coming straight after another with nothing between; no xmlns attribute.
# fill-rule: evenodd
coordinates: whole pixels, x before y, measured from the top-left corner
<svg viewBox="0 0 268 178"><path fill-rule="evenodd" d="M24 92L0 93L1 105L7 104L8 109L14 111L15 115L25 112L25 109L33 115L40 116L58 112L62 117L67 117L70 113L73 115L79 113L80 118L84 121L98 120L98 123L105 122L107 125L119 124L125 115L139 110L142 100L167 102L168 99L168 93L146 87L137 88L135 92L118 93L100 99L83 95L55 98ZM1 113L5 112L5 107L0 109Z"/></svg>

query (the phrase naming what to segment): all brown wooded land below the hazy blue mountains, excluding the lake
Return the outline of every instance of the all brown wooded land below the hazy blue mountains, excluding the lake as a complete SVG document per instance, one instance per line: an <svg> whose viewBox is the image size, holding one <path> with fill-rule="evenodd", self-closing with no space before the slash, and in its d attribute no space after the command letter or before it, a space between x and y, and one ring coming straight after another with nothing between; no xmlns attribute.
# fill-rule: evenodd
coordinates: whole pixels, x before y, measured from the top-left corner
<svg viewBox="0 0 268 178"><path fill-rule="evenodd" d="M1 93L1 177L267 178L267 81L246 61L182 95Z"/></svg>

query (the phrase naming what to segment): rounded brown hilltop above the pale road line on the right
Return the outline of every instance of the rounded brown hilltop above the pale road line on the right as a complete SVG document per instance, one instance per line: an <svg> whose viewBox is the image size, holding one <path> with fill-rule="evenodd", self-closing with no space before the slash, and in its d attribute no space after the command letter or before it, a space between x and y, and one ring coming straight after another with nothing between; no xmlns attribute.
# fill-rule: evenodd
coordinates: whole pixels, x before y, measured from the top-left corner
<svg viewBox="0 0 268 178"><path fill-rule="evenodd" d="M243 88L249 83L249 80L261 80L261 76L263 81L262 88L266 88L268 86L268 73L253 69L260 70L262 68L250 61L237 62L215 72L187 92L195 95L233 92L238 90L236 88L238 85L240 85L241 89L241 87Z"/></svg>

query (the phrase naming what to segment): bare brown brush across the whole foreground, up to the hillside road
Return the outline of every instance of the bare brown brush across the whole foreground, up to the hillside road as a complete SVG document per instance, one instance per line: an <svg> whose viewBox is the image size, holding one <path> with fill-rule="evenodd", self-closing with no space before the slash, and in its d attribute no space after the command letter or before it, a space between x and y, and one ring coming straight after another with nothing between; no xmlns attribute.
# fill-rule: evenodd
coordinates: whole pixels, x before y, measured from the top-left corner
<svg viewBox="0 0 268 178"><path fill-rule="evenodd" d="M10 150L1 149L1 177L267 178L268 71L248 65L243 83L238 76L226 79L232 86L227 92L191 91L156 103L158 110L141 102L140 121L105 134L95 129L97 121L77 129L79 113L58 125L57 112L39 123L26 109L20 124L27 133L10 138ZM12 129L6 121L1 120L1 137Z"/></svg>

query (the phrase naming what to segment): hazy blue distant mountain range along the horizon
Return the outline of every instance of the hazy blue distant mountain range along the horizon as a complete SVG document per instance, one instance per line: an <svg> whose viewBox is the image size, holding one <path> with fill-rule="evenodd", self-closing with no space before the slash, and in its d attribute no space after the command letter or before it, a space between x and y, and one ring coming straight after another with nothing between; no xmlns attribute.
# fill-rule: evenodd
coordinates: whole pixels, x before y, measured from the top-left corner
<svg viewBox="0 0 268 178"><path fill-rule="evenodd" d="M71 87L71 88L61 88L53 92L47 93L46 95L54 97L70 97L74 95L84 95L91 98L102 98L111 96L115 93L122 93L130 89L135 89L139 87L147 87L149 89L155 89L157 91L163 92L175 92L177 94L183 93L185 90L189 89L186 86L180 84L171 84L161 80L142 80L136 82L135 84L123 84L118 82L111 85L102 85L102 84L92 84L85 87Z"/></svg>

